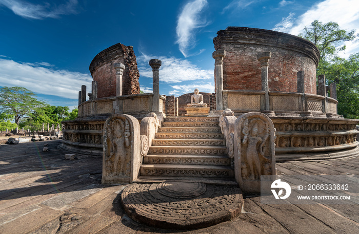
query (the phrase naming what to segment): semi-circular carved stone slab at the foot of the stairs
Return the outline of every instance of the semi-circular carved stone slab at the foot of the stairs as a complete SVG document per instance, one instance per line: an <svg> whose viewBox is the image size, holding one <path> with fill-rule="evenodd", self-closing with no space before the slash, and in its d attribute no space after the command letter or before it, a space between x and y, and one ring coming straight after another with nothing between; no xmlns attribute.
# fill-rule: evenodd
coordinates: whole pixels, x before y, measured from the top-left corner
<svg viewBox="0 0 359 234"><path fill-rule="evenodd" d="M192 182L130 184L122 193L129 217L168 229L208 227L241 214L241 189Z"/></svg>

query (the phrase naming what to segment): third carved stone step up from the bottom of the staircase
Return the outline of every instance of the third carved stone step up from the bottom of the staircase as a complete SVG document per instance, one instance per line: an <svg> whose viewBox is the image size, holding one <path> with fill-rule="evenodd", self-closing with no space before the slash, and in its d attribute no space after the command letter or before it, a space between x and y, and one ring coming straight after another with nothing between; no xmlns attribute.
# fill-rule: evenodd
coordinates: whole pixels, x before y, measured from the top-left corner
<svg viewBox="0 0 359 234"><path fill-rule="evenodd" d="M226 146L151 146L148 154L227 155Z"/></svg>

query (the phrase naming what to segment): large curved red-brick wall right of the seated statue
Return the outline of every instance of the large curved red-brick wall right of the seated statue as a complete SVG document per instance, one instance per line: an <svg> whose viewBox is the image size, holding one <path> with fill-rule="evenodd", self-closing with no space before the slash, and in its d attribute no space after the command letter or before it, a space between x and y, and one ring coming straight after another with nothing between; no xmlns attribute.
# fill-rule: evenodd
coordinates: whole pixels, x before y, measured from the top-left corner
<svg viewBox="0 0 359 234"><path fill-rule="evenodd" d="M286 33L246 27L217 32L214 48L224 49L224 90L261 90L261 66L257 55L271 52L269 90L297 92L297 72L304 71L305 93L316 94L319 52L303 38Z"/></svg>

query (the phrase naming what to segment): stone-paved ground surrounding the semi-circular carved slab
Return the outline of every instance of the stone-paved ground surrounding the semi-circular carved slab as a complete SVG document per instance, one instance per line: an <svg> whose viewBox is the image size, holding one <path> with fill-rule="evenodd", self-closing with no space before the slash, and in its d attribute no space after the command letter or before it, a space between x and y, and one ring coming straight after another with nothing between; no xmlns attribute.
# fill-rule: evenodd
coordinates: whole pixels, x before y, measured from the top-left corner
<svg viewBox="0 0 359 234"><path fill-rule="evenodd" d="M239 217L208 228L141 225L119 203L126 184L101 184L102 159L64 160L60 142L1 145L0 233L359 233L359 205L264 205L248 195ZM358 175L359 157L276 167L280 175Z"/></svg>

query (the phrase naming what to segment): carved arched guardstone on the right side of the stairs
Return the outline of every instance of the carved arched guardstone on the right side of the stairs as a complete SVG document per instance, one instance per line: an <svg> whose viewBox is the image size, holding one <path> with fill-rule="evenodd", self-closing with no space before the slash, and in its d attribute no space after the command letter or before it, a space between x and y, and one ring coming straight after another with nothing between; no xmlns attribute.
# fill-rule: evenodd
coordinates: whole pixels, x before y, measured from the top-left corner
<svg viewBox="0 0 359 234"><path fill-rule="evenodd" d="M244 192L259 193L261 175L275 175L274 132L273 122L259 112L235 121L234 173Z"/></svg>

